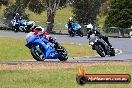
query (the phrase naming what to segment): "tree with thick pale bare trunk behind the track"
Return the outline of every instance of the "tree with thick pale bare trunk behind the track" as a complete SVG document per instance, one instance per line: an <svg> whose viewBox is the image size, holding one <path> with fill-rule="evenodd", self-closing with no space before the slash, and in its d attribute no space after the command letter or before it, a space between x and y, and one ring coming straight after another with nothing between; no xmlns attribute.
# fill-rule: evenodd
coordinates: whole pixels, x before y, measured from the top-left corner
<svg viewBox="0 0 132 88"><path fill-rule="evenodd" d="M34 2L39 4L38 7ZM52 29L54 27L53 24L56 15L56 10L64 7L66 3L67 0L43 0L43 1L34 0L29 3L29 9L35 13L36 11L39 11L38 14L44 10L47 10L47 32L50 33L52 32Z"/></svg>

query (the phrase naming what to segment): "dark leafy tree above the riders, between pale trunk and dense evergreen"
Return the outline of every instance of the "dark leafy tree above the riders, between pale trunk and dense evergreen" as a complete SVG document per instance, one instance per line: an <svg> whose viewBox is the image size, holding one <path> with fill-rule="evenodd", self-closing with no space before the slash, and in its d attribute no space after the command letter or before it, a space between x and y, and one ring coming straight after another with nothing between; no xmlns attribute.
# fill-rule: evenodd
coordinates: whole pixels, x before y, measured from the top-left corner
<svg viewBox="0 0 132 88"><path fill-rule="evenodd" d="M74 18L79 23L96 23L96 16L99 12L100 0L74 0Z"/></svg>

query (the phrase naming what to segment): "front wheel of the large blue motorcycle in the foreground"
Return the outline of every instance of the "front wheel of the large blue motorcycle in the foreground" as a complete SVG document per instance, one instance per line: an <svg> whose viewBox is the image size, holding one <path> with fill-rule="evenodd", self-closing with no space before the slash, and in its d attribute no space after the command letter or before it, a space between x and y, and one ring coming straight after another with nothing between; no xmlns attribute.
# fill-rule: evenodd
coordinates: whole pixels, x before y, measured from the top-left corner
<svg viewBox="0 0 132 88"><path fill-rule="evenodd" d="M30 49L31 55L33 56L33 58L37 61L44 61L44 55L42 53L42 49L40 48L40 50L38 51L36 49L36 46L32 46Z"/></svg>

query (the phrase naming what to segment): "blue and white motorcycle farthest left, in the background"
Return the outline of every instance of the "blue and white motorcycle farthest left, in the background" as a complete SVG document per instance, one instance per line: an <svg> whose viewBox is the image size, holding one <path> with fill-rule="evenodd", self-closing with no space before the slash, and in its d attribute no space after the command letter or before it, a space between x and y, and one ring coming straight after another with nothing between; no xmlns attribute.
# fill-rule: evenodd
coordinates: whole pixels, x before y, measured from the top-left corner
<svg viewBox="0 0 132 88"><path fill-rule="evenodd" d="M27 20L20 20L19 22L16 22L15 19L11 20L12 23L12 29L14 32L25 32L28 33L32 31L32 27L35 25L34 21L27 21Z"/></svg>

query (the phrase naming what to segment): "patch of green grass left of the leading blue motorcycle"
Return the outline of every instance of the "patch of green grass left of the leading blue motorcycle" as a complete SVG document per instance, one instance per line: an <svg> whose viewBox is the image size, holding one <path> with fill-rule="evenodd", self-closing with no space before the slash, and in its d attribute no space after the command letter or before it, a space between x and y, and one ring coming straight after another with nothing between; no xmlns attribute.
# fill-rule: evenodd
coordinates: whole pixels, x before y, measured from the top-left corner
<svg viewBox="0 0 132 88"><path fill-rule="evenodd" d="M0 61L32 58L30 51L24 46L23 39L0 38L0 46Z"/></svg>

